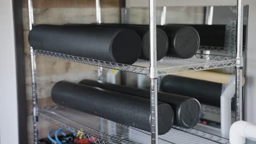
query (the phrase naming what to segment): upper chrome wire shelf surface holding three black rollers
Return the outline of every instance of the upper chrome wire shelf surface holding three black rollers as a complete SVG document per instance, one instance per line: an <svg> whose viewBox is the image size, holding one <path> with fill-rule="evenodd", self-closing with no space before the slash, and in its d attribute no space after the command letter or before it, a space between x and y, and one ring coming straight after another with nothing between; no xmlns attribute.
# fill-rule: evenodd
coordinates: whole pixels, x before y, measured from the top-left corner
<svg viewBox="0 0 256 144"><path fill-rule="evenodd" d="M85 63L110 69L125 70L132 73L149 75L150 62L143 59L138 59L138 61L134 64L127 65L113 62L98 61L96 59L65 55L61 53L43 50L35 50L35 53L37 55L65 59L67 61L72 62ZM216 69L234 66L236 66L236 58L228 56L196 54L194 57L188 59L164 57L160 61L158 61L158 74L169 75L185 73L187 71Z"/></svg>

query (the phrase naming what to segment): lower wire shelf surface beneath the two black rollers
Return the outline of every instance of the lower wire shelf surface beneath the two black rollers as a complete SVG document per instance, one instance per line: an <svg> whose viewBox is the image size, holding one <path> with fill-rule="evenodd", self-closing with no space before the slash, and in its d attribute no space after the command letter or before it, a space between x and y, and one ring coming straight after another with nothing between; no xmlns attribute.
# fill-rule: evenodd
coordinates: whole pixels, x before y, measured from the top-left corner
<svg viewBox="0 0 256 144"><path fill-rule="evenodd" d="M57 106L40 109L39 116L59 127L83 131L83 137L94 143L134 143L148 144L151 142L150 133L132 127L108 121L88 113ZM95 137L97 138L95 140ZM159 143L176 144L226 144L229 140L205 133L196 129L184 129L174 126L165 135L159 136Z"/></svg>

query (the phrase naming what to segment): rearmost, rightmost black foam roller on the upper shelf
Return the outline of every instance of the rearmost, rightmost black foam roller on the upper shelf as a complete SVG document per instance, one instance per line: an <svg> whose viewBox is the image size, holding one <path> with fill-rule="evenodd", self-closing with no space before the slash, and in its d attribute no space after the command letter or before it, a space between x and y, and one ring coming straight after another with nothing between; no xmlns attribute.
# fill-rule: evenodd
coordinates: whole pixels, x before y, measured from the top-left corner
<svg viewBox="0 0 256 144"><path fill-rule="evenodd" d="M190 58L200 46L200 37L196 29L190 26L166 25L162 28L169 38L167 56Z"/></svg>

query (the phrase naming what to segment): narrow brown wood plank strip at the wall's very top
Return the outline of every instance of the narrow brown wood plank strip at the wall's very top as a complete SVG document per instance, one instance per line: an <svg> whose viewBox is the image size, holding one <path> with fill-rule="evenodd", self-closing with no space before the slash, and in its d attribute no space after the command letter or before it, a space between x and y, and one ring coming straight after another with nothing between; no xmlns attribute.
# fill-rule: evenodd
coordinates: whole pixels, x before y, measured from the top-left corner
<svg viewBox="0 0 256 144"><path fill-rule="evenodd" d="M23 8L27 8L27 0ZM119 7L120 0L102 0L102 7ZM34 8L85 8L95 7L95 0L33 0Z"/></svg>

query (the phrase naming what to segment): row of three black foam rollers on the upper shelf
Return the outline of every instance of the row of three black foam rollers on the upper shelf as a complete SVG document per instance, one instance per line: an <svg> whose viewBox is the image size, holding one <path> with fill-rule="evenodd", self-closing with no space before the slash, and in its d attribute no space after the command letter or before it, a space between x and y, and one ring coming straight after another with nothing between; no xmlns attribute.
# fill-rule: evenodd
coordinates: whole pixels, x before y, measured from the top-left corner
<svg viewBox="0 0 256 144"><path fill-rule="evenodd" d="M190 58L199 49L200 38L191 26L158 26L157 60L165 56ZM133 64L138 58L150 60L147 25L90 24L37 25L28 36L35 50Z"/></svg>

